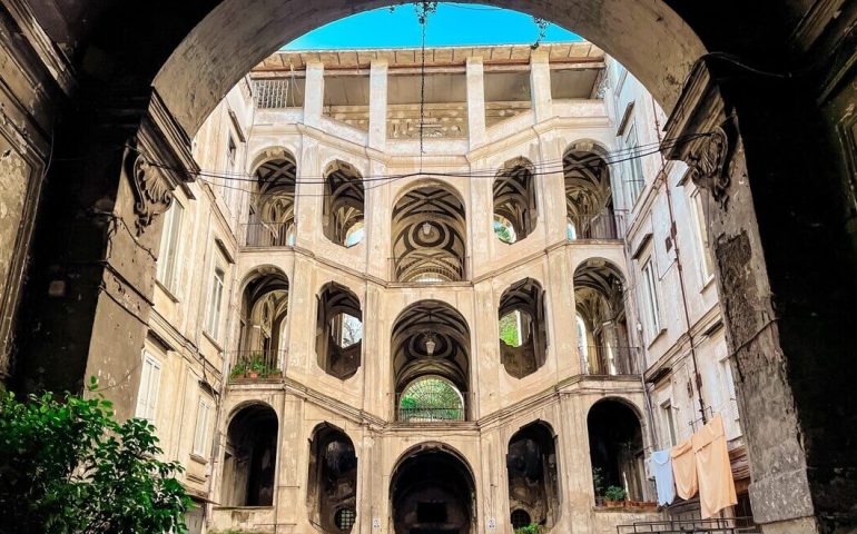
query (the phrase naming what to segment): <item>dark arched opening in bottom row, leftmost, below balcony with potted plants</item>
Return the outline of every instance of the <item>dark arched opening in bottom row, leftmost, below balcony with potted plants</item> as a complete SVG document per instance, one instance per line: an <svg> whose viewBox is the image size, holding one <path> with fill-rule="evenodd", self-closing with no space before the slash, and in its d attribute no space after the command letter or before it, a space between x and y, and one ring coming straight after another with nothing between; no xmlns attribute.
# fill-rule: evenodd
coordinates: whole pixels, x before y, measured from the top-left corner
<svg viewBox="0 0 857 534"><path fill-rule="evenodd" d="M226 432L220 503L270 506L277 462L277 414L270 406L240 408Z"/></svg>

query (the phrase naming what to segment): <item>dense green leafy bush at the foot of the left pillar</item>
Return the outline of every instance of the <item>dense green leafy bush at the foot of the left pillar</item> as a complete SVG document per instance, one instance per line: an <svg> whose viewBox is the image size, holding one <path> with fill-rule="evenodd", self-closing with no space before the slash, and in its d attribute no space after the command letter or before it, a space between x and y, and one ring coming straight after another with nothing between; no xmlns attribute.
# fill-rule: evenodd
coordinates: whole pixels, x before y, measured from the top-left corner
<svg viewBox="0 0 857 534"><path fill-rule="evenodd" d="M97 389L95 378L90 389ZM0 396L0 532L183 533L191 506L157 456L155 427L114 419L110 402Z"/></svg>

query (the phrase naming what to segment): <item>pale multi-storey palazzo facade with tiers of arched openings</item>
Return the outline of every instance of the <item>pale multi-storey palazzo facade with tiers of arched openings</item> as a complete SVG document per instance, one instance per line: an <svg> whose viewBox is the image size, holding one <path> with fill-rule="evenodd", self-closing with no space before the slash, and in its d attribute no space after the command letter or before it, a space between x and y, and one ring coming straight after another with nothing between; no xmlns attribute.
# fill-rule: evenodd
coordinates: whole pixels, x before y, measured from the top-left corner
<svg viewBox="0 0 857 534"><path fill-rule="evenodd" d="M696 517L646 462L717 413L746 477L707 194L663 121L588 42L256 67L162 215L141 356L191 532Z"/></svg>

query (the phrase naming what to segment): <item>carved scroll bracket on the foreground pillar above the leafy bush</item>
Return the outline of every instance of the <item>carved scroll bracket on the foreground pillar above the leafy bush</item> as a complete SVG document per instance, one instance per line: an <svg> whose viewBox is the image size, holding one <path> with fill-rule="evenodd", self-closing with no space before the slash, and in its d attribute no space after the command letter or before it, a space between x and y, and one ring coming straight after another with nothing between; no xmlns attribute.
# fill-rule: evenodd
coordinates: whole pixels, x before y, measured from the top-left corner
<svg viewBox="0 0 857 534"><path fill-rule="evenodd" d="M173 189L162 172L149 165L145 156L132 148L125 149L125 171L134 190L134 212L137 236L141 236L155 218L173 204Z"/></svg>

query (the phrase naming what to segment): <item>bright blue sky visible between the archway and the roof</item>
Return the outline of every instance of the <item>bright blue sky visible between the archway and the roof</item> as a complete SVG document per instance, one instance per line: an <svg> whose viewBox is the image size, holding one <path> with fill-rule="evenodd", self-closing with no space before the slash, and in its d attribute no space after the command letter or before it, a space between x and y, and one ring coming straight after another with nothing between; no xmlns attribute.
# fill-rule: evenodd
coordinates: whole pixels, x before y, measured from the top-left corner
<svg viewBox="0 0 857 534"><path fill-rule="evenodd" d="M425 43L430 47L466 44L529 44L539 29L529 14L489 6L441 3L428 17ZM542 42L580 40L550 24ZM285 50L332 48L398 48L420 46L420 24L413 4L391 12L381 8L353 14L289 42Z"/></svg>

